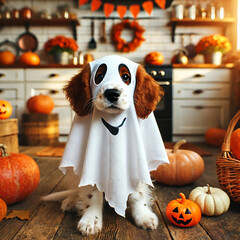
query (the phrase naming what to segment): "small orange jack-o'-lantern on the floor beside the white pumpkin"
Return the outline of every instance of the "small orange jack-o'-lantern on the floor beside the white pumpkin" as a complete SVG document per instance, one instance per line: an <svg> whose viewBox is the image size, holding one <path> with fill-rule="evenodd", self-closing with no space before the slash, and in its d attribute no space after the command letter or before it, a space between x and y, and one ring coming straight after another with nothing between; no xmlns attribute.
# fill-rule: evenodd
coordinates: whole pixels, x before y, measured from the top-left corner
<svg viewBox="0 0 240 240"><path fill-rule="evenodd" d="M166 208L167 218L179 227L192 227L201 220L201 210L193 201L186 199L183 193L181 198L172 200Z"/></svg>

